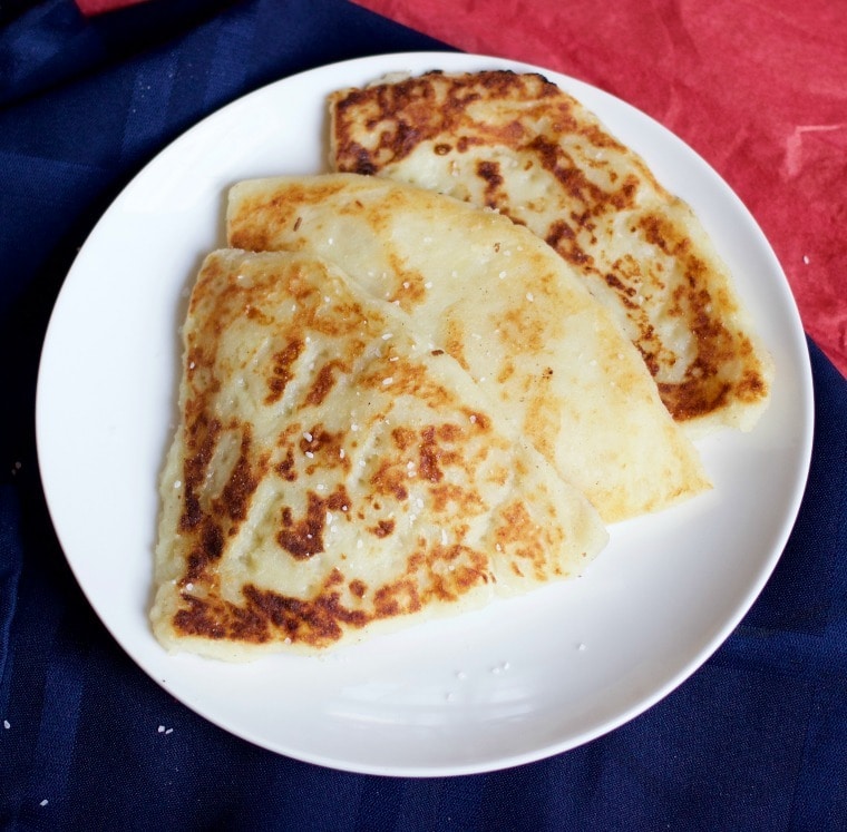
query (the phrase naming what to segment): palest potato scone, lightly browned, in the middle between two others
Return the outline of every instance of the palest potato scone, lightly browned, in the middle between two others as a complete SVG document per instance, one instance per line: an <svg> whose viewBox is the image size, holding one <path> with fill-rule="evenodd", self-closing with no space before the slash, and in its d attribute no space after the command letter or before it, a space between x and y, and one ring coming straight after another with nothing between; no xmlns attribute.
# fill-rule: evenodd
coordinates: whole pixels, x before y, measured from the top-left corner
<svg viewBox="0 0 847 832"><path fill-rule="evenodd" d="M612 316L506 217L379 177L280 177L231 189L227 235L325 257L408 313L606 522L709 487Z"/></svg>

